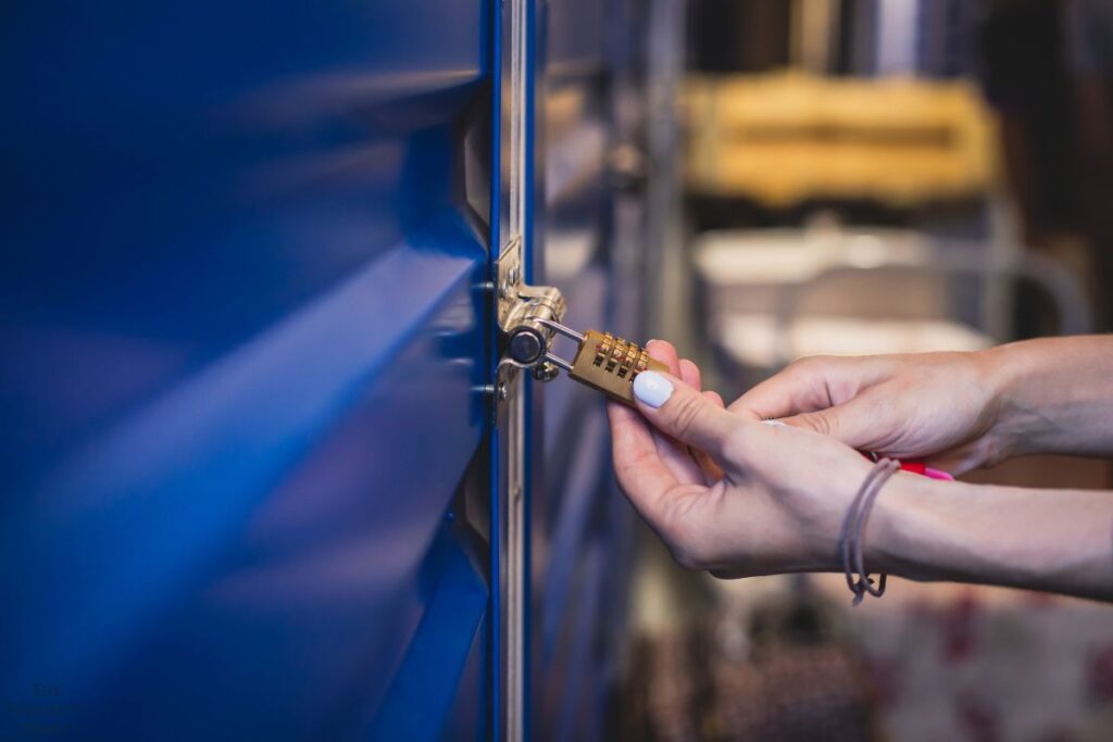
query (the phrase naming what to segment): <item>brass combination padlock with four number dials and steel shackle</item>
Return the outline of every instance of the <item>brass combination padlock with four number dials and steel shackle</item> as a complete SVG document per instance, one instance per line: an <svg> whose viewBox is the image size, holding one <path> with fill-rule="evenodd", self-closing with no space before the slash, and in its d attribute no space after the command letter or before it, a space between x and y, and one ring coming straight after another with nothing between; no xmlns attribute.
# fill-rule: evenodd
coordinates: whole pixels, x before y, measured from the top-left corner
<svg viewBox="0 0 1113 742"><path fill-rule="evenodd" d="M548 349L544 350L542 363L533 366L534 377L541 380L553 378L556 368L563 368L570 378L602 392L615 402L633 406L634 377L649 369L664 373L669 370L669 367L660 360L650 358L649 352L643 347L610 333L589 329L581 334L551 319L536 321L577 343L572 363ZM531 350L538 347L524 338L519 343L519 345L526 344ZM513 349L512 340L512 355Z"/></svg>

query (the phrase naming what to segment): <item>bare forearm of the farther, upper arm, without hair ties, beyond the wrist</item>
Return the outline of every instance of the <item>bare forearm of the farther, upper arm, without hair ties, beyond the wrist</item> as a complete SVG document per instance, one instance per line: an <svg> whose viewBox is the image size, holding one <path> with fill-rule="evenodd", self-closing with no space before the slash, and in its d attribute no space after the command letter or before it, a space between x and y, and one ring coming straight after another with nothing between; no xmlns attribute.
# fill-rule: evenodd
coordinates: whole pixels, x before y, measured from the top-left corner
<svg viewBox="0 0 1113 742"><path fill-rule="evenodd" d="M1113 455L1113 336L1013 343L983 359L1006 455Z"/></svg>

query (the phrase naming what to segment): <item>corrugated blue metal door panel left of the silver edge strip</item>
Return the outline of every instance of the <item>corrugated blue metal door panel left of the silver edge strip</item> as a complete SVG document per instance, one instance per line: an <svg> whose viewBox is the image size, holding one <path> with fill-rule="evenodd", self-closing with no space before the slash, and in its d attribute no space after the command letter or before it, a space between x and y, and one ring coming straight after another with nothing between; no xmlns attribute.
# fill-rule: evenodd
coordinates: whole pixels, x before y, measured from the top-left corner
<svg viewBox="0 0 1113 742"><path fill-rule="evenodd" d="M433 734L482 703L486 586L433 544L485 426L487 13L6 8L0 738L353 738L407 683Z"/></svg>

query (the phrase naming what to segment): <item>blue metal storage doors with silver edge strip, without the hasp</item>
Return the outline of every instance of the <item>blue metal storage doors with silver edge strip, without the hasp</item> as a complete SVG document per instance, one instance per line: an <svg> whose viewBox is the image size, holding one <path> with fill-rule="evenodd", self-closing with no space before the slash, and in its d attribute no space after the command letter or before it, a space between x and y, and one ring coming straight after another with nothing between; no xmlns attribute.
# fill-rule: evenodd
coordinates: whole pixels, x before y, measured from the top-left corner
<svg viewBox="0 0 1113 742"><path fill-rule="evenodd" d="M637 6L4 8L0 739L599 736L629 513L487 284L637 330Z"/></svg>

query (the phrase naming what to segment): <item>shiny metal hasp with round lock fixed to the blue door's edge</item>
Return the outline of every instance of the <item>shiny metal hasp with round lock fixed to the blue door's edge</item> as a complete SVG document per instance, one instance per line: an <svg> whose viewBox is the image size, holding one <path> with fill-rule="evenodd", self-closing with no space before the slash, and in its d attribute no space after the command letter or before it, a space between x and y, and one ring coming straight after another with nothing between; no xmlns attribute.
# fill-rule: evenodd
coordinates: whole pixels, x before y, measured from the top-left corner
<svg viewBox="0 0 1113 742"><path fill-rule="evenodd" d="M525 284L521 256L521 237L515 236L499 260L498 318L503 342L499 370L511 374L514 368L530 368L533 378L550 382L560 368L571 368L552 353L553 335L563 327L564 297L552 286Z"/></svg>

